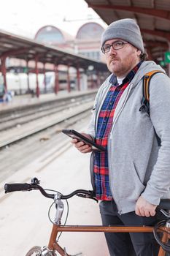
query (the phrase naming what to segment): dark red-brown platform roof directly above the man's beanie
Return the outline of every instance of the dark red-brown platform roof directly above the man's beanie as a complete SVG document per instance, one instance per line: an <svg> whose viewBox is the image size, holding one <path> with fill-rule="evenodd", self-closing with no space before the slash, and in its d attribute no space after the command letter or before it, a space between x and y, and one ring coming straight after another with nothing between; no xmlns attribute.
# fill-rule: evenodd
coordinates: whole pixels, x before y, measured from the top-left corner
<svg viewBox="0 0 170 256"><path fill-rule="evenodd" d="M88 7L108 25L114 20L134 18L139 24L145 48L158 61L169 49L169 0L85 0Z"/></svg>

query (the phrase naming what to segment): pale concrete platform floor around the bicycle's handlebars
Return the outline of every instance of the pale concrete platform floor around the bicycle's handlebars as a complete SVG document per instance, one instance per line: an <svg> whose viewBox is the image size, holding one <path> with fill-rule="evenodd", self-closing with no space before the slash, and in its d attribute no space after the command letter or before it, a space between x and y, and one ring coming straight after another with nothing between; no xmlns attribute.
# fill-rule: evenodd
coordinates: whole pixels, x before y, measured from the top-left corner
<svg viewBox="0 0 170 256"><path fill-rule="evenodd" d="M91 189L90 154L81 154L68 144L61 151L47 152L0 183L0 255L24 256L31 246L47 245L51 223L47 211L53 200L39 191L12 192L4 195L4 184L29 182L37 177L42 187L68 194L75 189ZM55 210L51 212L54 217ZM69 200L67 225L101 225L98 204L93 200L73 197ZM108 256L103 233L63 233L59 244L71 254Z"/></svg>

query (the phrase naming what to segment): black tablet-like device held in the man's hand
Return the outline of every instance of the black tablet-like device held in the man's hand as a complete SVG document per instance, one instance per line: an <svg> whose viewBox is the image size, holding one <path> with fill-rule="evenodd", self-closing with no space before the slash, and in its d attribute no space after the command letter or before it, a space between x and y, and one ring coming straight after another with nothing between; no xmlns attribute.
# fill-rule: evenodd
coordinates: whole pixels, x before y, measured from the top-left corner
<svg viewBox="0 0 170 256"><path fill-rule="evenodd" d="M81 133L75 131L74 129L62 129L62 132L71 137L72 139L77 139L79 141L83 141L85 144L88 144L90 146L92 146L93 150L96 151L107 151L106 148L97 145L93 140L90 140L88 138L86 138L85 136L83 136Z"/></svg>

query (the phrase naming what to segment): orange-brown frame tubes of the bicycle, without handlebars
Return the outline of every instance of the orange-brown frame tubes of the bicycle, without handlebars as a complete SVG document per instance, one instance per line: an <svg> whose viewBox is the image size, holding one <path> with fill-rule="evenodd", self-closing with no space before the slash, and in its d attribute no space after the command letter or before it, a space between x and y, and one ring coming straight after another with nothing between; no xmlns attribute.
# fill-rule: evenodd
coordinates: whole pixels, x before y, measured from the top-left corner
<svg viewBox="0 0 170 256"><path fill-rule="evenodd" d="M166 227L165 227L166 228ZM161 227L161 231L164 228ZM70 256L64 251L63 248L56 242L56 237L58 232L104 232L104 233L152 233L153 227L148 226L140 226L140 227L120 227L120 226L63 226L63 225L53 225L52 233L50 236L50 241L48 244L48 249L53 251L54 249L61 255L61 256ZM169 235L167 233L163 233L162 241L168 241ZM160 248L158 256L165 256L166 252Z"/></svg>

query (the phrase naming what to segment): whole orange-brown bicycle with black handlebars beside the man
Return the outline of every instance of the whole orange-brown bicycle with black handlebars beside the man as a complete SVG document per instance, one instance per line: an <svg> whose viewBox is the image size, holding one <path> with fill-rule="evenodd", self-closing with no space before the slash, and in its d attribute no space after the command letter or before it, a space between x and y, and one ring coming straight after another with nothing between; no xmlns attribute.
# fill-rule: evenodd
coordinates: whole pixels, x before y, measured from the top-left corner
<svg viewBox="0 0 170 256"><path fill-rule="evenodd" d="M168 244L170 238L170 199L161 200L160 205L158 206L159 211L166 217L165 219L158 222L154 227L151 226L75 226L75 225L61 225L61 218L63 215L63 202L62 200L67 200L74 195L90 198L96 200L95 194L91 190L85 189L77 189L69 195L62 195L60 192L55 192L55 194L50 194L45 191L40 185L38 178L32 178L31 183L24 184L5 184L4 185L5 193L15 192L15 191L31 191L31 190L39 190L42 195L45 197L51 198L55 203L55 220L53 222L53 228L50 235L50 240L47 246L34 246L32 247L26 254L26 256L57 256L57 252L61 256L78 256L82 255L82 253L77 255L69 255L66 252L65 248L62 248L58 244L58 233L59 232L123 232L123 233L148 233L153 232L156 241L160 245L160 250L158 256L165 256L166 252L170 252L170 245ZM49 189L48 189L49 190ZM52 190L51 190L52 191ZM167 210L167 211L165 211ZM159 235L161 234L161 238ZM58 239L57 239L58 237Z"/></svg>

